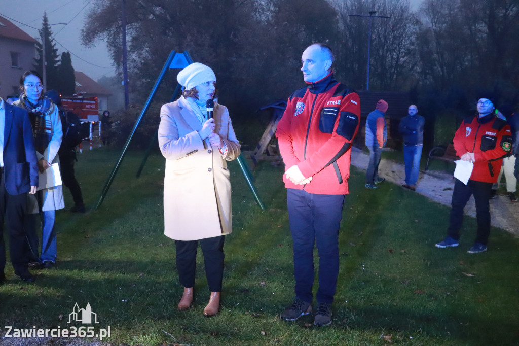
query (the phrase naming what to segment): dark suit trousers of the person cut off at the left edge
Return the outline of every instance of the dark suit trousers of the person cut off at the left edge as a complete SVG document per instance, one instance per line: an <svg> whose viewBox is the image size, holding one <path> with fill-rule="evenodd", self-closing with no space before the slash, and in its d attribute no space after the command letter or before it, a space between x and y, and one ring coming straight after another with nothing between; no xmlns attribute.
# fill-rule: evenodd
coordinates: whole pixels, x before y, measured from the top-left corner
<svg viewBox="0 0 519 346"><path fill-rule="evenodd" d="M23 216L27 206L27 194L10 195L5 189L5 175L3 172L0 182L0 273L4 272L5 243L4 243L4 219L9 236L9 254L15 273L25 274L28 272L28 260L26 253L25 231L23 229Z"/></svg>

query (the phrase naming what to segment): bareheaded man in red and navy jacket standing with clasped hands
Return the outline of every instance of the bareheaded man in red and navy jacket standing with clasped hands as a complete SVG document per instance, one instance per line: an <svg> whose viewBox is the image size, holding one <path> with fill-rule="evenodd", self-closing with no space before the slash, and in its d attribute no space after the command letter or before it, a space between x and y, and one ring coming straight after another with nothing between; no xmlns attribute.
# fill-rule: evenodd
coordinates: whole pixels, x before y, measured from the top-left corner
<svg viewBox="0 0 519 346"><path fill-rule="evenodd" d="M326 45L306 48L302 63L307 86L290 96L276 130L285 163L295 276L295 300L281 318L295 321L311 312L316 243L319 308L314 324L323 326L332 323L339 225L348 194L351 142L359 129L360 99L333 78L333 54Z"/></svg>

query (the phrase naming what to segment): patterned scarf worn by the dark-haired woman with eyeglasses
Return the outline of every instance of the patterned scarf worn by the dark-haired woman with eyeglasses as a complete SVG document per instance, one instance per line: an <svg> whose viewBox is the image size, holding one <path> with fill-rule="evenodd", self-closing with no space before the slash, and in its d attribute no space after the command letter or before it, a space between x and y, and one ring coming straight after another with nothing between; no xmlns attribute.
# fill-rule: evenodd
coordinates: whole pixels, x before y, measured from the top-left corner
<svg viewBox="0 0 519 346"><path fill-rule="evenodd" d="M50 115L54 112L56 105L45 96L40 97L36 104L29 101L24 92L20 95L18 107L29 113L31 125L34 131L34 147L43 155L49 146L52 137L52 119Z"/></svg>

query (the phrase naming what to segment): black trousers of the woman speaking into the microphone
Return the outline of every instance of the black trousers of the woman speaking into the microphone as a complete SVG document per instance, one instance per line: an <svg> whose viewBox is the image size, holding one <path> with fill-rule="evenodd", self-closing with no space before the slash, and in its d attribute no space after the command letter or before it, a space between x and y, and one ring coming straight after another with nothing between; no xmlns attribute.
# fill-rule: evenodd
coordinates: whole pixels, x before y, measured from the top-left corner
<svg viewBox="0 0 519 346"><path fill-rule="evenodd" d="M175 241L176 269L179 272L179 280L182 286L195 286L196 253L198 243L200 243L209 290L211 292L222 290L225 257L224 240L225 236L222 235L196 241Z"/></svg>

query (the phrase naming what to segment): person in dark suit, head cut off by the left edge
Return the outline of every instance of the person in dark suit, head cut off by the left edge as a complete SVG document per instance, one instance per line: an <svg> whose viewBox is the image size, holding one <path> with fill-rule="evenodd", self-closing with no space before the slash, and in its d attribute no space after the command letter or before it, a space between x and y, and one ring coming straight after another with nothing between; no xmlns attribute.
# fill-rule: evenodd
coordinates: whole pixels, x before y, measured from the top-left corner
<svg viewBox="0 0 519 346"><path fill-rule="evenodd" d="M9 234L9 253L15 274L24 282L34 282L27 269L23 217L27 193L38 186L36 150L29 114L0 98L0 283L5 280L4 218Z"/></svg>

